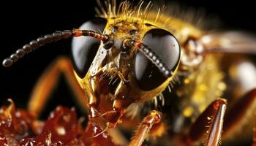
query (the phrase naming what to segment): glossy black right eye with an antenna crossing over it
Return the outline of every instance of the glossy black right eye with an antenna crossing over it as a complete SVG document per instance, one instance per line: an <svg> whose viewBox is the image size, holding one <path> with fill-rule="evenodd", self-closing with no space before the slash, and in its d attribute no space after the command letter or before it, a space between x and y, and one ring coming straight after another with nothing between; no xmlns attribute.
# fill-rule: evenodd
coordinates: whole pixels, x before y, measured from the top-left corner
<svg viewBox="0 0 256 146"><path fill-rule="evenodd" d="M175 37L170 32L155 28L146 33L143 43L159 56L168 69L174 71L180 59L180 48ZM143 53L135 55L135 78L143 91L150 91L161 85L167 78L159 71Z"/></svg>

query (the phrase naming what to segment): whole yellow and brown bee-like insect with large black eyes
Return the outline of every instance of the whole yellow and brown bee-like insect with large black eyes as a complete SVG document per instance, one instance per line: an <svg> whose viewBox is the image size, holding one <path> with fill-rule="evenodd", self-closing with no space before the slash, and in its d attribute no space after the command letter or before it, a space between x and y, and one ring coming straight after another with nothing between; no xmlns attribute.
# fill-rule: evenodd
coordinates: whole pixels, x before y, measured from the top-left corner
<svg viewBox="0 0 256 146"><path fill-rule="evenodd" d="M218 145L221 137L233 145L232 140L252 139L255 63L225 53L255 55L255 37L203 31L151 2L98 3L99 18L39 37L4 59L9 67L37 47L75 37L71 60L60 58L39 79L29 101L34 117L63 73L89 122L99 123L104 129L99 134L108 132L118 145L128 145L121 133L132 135L130 129L137 130L129 145L146 139L151 145ZM119 126L121 131L111 131ZM236 134L244 137L232 139Z"/></svg>

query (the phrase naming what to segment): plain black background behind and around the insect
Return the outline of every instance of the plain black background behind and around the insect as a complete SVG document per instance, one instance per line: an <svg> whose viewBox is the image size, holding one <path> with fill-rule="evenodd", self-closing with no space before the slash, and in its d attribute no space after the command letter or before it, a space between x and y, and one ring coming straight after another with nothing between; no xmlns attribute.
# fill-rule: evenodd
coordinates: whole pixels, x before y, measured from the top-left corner
<svg viewBox="0 0 256 146"><path fill-rule="evenodd" d="M157 1L154 1L157 2ZM181 0L181 5L206 9L208 15L217 15L225 28L256 32L255 8L252 1ZM78 28L86 20L94 18L95 1L9 1L1 2L1 49L4 59L32 39L56 30ZM11 68L0 66L0 104L12 98L18 107L25 107L29 94L39 74L59 55L69 55L70 39L47 45L20 59ZM56 104L73 105L72 95L61 80L50 101L52 110Z"/></svg>

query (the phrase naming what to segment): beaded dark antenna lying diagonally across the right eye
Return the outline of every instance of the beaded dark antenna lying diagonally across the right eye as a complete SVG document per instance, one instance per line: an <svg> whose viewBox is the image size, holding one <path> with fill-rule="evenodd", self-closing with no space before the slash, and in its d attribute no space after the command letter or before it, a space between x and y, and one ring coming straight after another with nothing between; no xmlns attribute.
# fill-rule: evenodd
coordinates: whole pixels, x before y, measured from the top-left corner
<svg viewBox="0 0 256 146"><path fill-rule="evenodd" d="M160 70L160 72L162 72L162 74L165 75L165 77L170 77L173 75L173 72L168 69L168 67L159 58L157 53L154 53L150 47L144 45L143 42L135 40L131 40L130 44L140 50L141 53L143 53L155 66L157 66L157 68Z"/></svg>

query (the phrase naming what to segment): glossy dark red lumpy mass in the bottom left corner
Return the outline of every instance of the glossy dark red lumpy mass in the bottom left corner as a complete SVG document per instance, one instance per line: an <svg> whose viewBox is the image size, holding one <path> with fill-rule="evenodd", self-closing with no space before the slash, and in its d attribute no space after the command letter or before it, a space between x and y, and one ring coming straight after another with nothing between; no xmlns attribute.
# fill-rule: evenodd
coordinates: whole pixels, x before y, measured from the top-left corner
<svg viewBox="0 0 256 146"><path fill-rule="evenodd" d="M113 145L107 133L95 123L83 128L75 109L57 107L48 120L34 119L26 110L16 110L10 106L0 109L0 146L7 145Z"/></svg>

